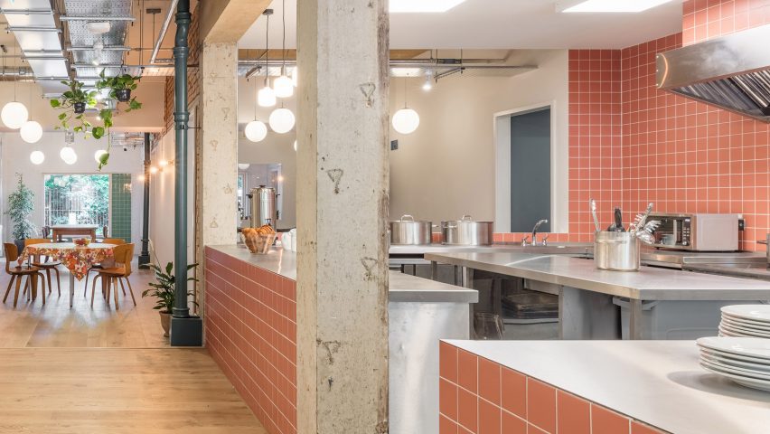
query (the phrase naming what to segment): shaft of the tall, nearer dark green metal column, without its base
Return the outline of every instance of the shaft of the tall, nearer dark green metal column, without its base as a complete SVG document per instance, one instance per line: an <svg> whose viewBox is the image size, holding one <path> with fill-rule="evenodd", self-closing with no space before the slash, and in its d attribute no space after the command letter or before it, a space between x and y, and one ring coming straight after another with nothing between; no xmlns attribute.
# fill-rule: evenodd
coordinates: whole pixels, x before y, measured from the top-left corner
<svg viewBox="0 0 770 434"><path fill-rule="evenodd" d="M176 7L174 43L174 129L176 154L174 163L174 281L176 282L173 314L175 318L190 316L187 305L187 33L190 29L190 1L179 0Z"/></svg>

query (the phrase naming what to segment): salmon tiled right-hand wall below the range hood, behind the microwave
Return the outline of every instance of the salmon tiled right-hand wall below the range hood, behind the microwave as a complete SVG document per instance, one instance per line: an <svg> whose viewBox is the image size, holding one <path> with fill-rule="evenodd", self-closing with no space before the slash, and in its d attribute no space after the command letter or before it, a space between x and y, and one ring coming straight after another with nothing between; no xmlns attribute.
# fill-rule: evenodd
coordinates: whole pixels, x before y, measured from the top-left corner
<svg viewBox="0 0 770 434"><path fill-rule="evenodd" d="M736 2L737 3L737 2ZM681 34L622 51L624 210L738 212L741 247L770 231L770 128L655 86L655 54Z"/></svg>

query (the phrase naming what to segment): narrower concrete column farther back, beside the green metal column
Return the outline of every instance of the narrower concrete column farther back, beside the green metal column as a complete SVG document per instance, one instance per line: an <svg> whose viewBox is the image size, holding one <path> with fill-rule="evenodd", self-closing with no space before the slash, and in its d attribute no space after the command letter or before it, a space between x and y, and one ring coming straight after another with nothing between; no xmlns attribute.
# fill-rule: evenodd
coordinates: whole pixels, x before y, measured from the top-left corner
<svg viewBox="0 0 770 434"><path fill-rule="evenodd" d="M203 42L201 62L201 129L198 130L196 189L197 258L203 246L235 244L238 218L238 45ZM203 269L203 265L199 267ZM205 281L199 312L203 308Z"/></svg>

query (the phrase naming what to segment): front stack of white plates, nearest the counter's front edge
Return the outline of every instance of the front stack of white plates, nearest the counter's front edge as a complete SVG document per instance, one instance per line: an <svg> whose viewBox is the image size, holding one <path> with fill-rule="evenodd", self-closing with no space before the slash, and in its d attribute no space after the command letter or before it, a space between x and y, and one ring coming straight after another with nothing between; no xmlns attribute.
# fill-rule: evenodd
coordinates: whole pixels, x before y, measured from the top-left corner
<svg viewBox="0 0 770 434"><path fill-rule="evenodd" d="M738 384L770 392L770 340L701 337L700 366Z"/></svg>

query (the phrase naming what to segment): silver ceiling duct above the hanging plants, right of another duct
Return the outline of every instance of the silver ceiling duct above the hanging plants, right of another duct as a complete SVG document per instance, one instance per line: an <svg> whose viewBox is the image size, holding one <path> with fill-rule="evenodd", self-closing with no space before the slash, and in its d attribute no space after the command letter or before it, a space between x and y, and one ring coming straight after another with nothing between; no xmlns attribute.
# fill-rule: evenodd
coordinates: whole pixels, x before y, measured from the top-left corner
<svg viewBox="0 0 770 434"><path fill-rule="evenodd" d="M61 21L72 56L75 78L86 86L108 76L127 72L140 75L137 67L124 67L128 26L134 21L131 0L63 0ZM90 49L89 49L90 47Z"/></svg>

